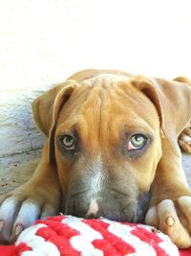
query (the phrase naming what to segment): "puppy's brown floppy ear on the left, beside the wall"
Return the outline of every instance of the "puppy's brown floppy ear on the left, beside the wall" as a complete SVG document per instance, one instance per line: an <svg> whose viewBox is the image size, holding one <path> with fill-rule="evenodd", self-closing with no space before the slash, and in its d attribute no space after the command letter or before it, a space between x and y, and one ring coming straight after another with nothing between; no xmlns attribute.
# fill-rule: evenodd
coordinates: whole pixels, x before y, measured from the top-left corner
<svg viewBox="0 0 191 256"><path fill-rule="evenodd" d="M54 162L54 131L61 107L69 100L78 84L68 80L54 86L32 103L33 119L37 127L49 137L49 162Z"/></svg>

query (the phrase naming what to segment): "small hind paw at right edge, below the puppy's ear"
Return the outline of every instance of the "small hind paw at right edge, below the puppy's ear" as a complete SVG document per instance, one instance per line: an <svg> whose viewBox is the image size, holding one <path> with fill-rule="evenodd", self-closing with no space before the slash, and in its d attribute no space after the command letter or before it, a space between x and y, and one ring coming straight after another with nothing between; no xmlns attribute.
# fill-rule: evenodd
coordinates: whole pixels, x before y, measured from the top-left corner
<svg viewBox="0 0 191 256"><path fill-rule="evenodd" d="M179 137L180 148L191 153L191 128L184 128Z"/></svg>

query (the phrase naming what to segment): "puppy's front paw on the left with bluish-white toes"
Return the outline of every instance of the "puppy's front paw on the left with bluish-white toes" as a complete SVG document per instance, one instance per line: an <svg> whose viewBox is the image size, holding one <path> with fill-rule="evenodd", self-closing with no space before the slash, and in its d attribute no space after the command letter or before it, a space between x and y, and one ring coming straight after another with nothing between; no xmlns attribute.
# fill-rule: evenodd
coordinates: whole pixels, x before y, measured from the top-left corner
<svg viewBox="0 0 191 256"><path fill-rule="evenodd" d="M35 220L57 214L59 201L48 191L26 184L0 198L0 244L15 241Z"/></svg>

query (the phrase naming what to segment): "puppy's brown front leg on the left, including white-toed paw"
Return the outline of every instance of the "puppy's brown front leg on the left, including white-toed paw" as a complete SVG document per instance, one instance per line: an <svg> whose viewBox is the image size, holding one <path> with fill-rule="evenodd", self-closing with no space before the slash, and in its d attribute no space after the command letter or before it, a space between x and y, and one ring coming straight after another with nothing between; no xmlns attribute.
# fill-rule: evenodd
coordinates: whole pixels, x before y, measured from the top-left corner
<svg viewBox="0 0 191 256"><path fill-rule="evenodd" d="M32 178L0 198L0 241L14 241L36 219L57 214L60 191L56 168L48 163L46 143Z"/></svg>

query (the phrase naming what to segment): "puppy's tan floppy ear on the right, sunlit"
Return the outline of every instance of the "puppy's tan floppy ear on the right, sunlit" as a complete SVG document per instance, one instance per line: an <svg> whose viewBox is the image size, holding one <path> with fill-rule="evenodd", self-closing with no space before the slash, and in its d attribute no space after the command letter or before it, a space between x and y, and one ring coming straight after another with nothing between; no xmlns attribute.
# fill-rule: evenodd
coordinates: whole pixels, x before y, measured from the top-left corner
<svg viewBox="0 0 191 256"><path fill-rule="evenodd" d="M161 128L179 154L178 137L191 119L191 86L185 81L134 77L132 83L156 105Z"/></svg>

